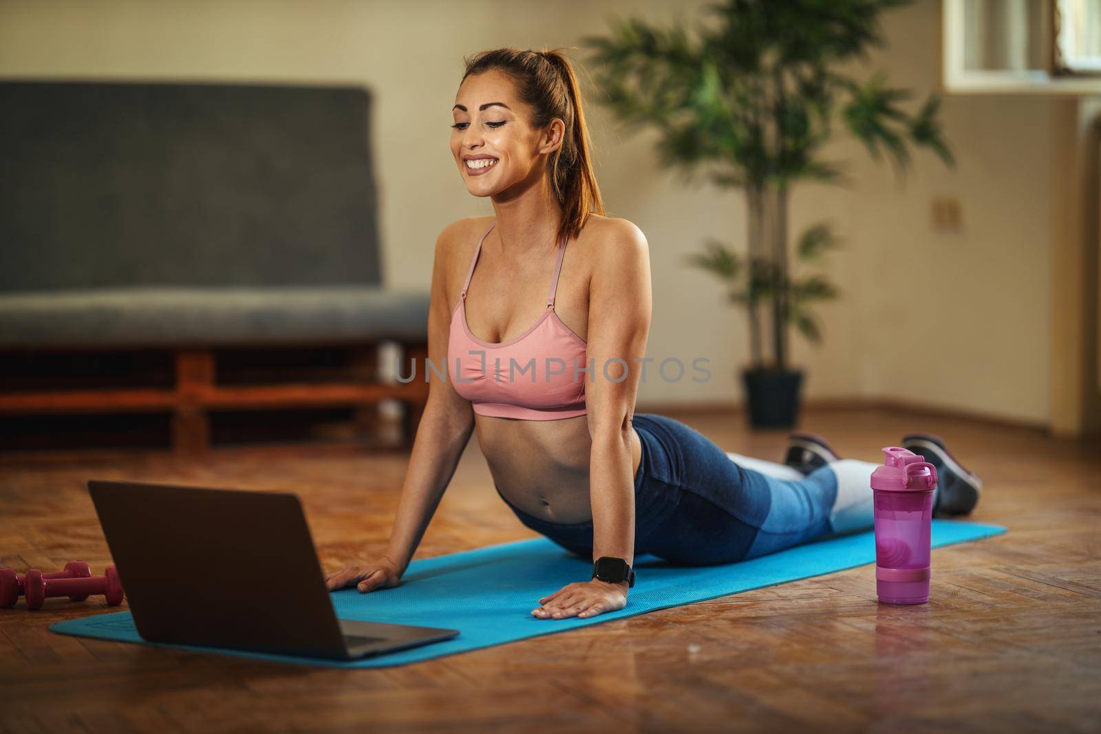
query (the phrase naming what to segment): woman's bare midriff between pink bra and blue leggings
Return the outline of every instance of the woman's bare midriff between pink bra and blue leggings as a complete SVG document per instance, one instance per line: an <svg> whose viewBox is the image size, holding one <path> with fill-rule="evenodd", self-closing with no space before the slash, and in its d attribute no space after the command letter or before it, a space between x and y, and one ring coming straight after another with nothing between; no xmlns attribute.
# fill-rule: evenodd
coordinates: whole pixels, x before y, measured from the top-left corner
<svg viewBox="0 0 1101 734"><path fill-rule="evenodd" d="M592 519L586 416L517 420L476 416L478 445L500 493L521 511L548 523ZM631 427L631 482L642 461L642 442Z"/></svg>

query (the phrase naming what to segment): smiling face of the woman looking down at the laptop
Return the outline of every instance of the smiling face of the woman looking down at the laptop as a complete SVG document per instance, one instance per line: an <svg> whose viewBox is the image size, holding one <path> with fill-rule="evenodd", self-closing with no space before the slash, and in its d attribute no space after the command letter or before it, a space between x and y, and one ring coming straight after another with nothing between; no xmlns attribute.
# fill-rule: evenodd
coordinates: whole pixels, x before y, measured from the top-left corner
<svg viewBox="0 0 1101 734"><path fill-rule="evenodd" d="M475 196L536 180L562 144L562 120L533 128L532 108L516 99L512 79L495 69L468 76L451 113L451 155Z"/></svg>

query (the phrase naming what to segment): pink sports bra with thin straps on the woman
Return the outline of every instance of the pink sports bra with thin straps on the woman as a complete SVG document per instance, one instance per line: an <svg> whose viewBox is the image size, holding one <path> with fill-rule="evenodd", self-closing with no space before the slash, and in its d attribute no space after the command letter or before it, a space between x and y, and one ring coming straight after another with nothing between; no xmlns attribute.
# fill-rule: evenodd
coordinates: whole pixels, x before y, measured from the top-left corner
<svg viewBox="0 0 1101 734"><path fill-rule="evenodd" d="M448 371L455 392L470 401L478 415L525 420L557 420L585 415L588 372L585 340L554 311L555 291L567 238L558 243L547 309L526 331L498 343L482 341L467 324L467 289L478 264L481 244L494 221L478 240L462 294L451 313ZM575 376L576 375L576 376Z"/></svg>

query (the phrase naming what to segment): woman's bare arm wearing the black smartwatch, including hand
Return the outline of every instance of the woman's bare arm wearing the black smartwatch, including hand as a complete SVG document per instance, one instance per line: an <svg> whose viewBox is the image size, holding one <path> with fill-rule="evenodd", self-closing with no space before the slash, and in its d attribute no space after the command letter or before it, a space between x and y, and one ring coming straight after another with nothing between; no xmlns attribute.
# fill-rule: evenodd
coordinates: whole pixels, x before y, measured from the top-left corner
<svg viewBox="0 0 1101 734"><path fill-rule="evenodd" d="M631 416L634 415L646 339L652 293L650 248L645 235L625 219L604 223L589 284L587 358L591 371L585 383L592 453L589 496L592 504L592 559L623 558L634 565L634 476L631 456ZM550 596L542 618L592 616L622 609L628 584L596 579L573 583Z"/></svg>

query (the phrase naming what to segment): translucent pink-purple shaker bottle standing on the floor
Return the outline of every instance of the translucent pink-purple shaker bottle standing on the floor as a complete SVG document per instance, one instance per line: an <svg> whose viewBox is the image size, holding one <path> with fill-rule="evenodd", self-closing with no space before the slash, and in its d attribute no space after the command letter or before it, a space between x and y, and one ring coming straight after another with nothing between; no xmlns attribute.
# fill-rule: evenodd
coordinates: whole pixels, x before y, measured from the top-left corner
<svg viewBox="0 0 1101 734"><path fill-rule="evenodd" d="M875 591L887 604L929 601L929 533L937 469L896 446L872 472L875 503Z"/></svg>

